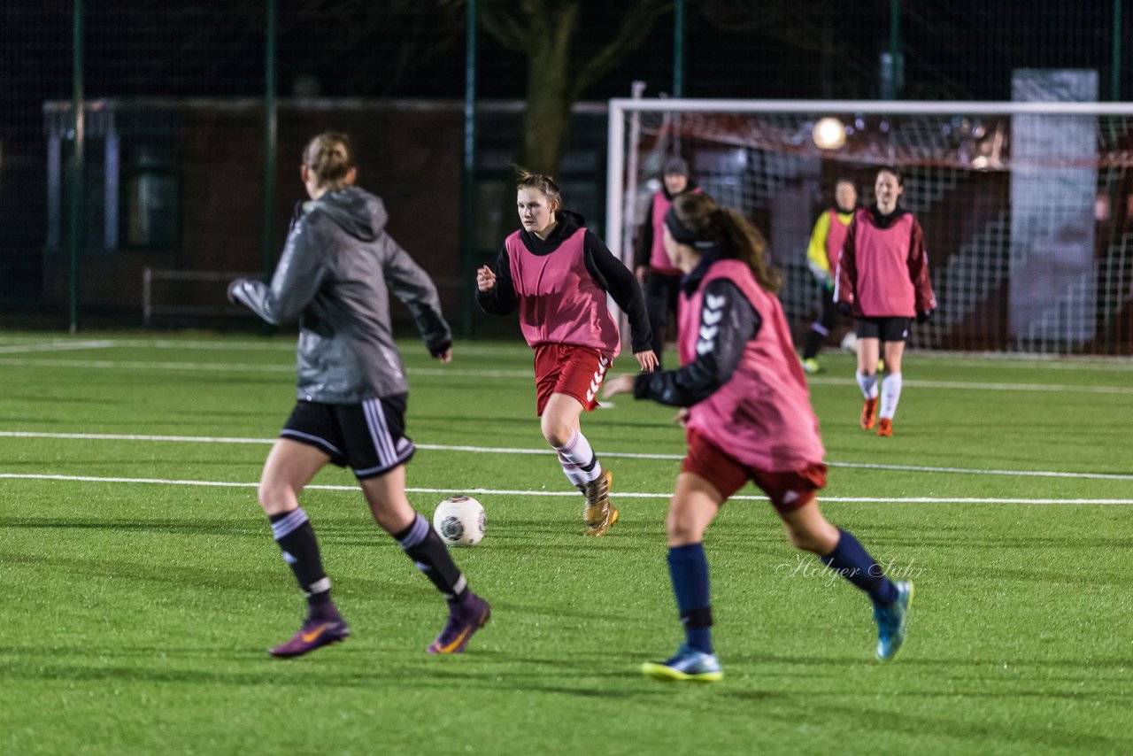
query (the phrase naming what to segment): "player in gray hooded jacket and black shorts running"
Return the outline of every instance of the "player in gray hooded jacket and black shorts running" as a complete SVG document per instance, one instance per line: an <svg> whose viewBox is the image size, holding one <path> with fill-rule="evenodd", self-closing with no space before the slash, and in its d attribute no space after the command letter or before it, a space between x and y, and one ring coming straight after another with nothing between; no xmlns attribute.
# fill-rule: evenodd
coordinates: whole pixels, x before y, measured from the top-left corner
<svg viewBox="0 0 1133 756"><path fill-rule="evenodd" d="M406 496L415 447L404 435L408 384L390 329L387 289L409 307L429 352L452 359L436 287L385 232L382 201L353 186L346 135L313 138L301 176L310 202L296 213L271 286L239 279L229 287L230 299L269 323L299 320L298 402L267 455L258 495L308 613L295 637L269 652L301 656L350 634L299 507L304 486L333 462L353 470L375 521L448 600L449 620L427 651L461 653L491 610Z"/></svg>

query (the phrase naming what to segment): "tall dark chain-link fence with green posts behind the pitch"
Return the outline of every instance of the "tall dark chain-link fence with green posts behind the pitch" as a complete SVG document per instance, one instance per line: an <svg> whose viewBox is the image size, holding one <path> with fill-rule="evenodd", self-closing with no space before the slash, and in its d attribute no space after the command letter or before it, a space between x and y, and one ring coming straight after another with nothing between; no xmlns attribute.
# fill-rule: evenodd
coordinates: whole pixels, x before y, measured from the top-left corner
<svg viewBox="0 0 1133 756"><path fill-rule="evenodd" d="M1133 14L1119 0L657 2L606 61L623 18L648 3L543 9L573 32L568 83L608 62L564 87L581 104L556 173L599 232L603 103L637 80L647 96L1006 100L1014 69L1085 68L1100 99L1133 92ZM550 65L489 23L518 5L479 0L468 78L460 0L5 3L0 316L53 329L250 326L223 282L272 267L301 196L300 148L335 128L353 136L360 182L385 198L389 230L436 278L458 331L485 332L467 271L509 222L530 65Z"/></svg>

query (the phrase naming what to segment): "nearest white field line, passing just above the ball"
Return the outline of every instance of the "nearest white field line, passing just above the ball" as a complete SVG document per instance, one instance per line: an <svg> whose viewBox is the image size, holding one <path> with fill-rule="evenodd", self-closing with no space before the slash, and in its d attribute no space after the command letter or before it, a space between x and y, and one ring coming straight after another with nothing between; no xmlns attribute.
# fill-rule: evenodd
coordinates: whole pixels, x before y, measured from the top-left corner
<svg viewBox="0 0 1133 756"><path fill-rule="evenodd" d="M185 485L213 489L255 489L258 483L233 483L227 481L179 481L164 478L126 478L126 477L97 477L93 475L50 475L34 473L0 473L0 478L18 481L61 481L77 483L148 483L152 485ZM353 485L308 485L307 489L316 491L360 491ZM432 494L483 494L499 496L578 496L577 491L521 491L512 489L461 489L459 492L453 489L410 489L409 493L432 493ZM663 493L619 493L619 499L670 499L668 492ZM732 496L741 501L767 501L766 496ZM905 496L905 498L883 498L883 496L823 496L824 502L843 503L917 503L917 504L1133 504L1133 499L977 499L977 498L935 498L935 496Z"/></svg>

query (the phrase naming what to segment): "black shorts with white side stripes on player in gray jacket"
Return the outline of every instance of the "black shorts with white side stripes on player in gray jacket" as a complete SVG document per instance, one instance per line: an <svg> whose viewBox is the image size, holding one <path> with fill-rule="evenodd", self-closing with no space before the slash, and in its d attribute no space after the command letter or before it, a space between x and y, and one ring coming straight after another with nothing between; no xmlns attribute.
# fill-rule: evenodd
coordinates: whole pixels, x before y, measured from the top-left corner
<svg viewBox="0 0 1133 756"><path fill-rule="evenodd" d="M280 436L325 452L358 478L373 478L408 462L417 448L406 435L407 394L357 405L296 404Z"/></svg>

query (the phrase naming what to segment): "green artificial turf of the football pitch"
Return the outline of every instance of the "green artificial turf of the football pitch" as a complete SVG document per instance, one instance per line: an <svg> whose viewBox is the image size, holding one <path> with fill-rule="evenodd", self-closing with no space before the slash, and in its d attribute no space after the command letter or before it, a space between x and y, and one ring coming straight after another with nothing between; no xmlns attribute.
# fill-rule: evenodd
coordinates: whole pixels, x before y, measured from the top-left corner
<svg viewBox="0 0 1133 756"><path fill-rule="evenodd" d="M875 661L868 600L794 551L765 501L738 500L705 541L724 679L682 686L638 672L681 638L674 413L617 397L583 418L622 511L583 538L512 343L458 343L449 366L402 343L410 499L484 503L487 536L454 555L492 622L465 655L426 655L445 611L431 584L357 491L309 490L352 636L270 659L304 611L255 496L292 346L0 337L0 753L1133 750L1133 510L1093 503L1133 500L1130 362L911 352L881 439L857 426L852 357L824 355L823 509L915 581L908 644Z"/></svg>

